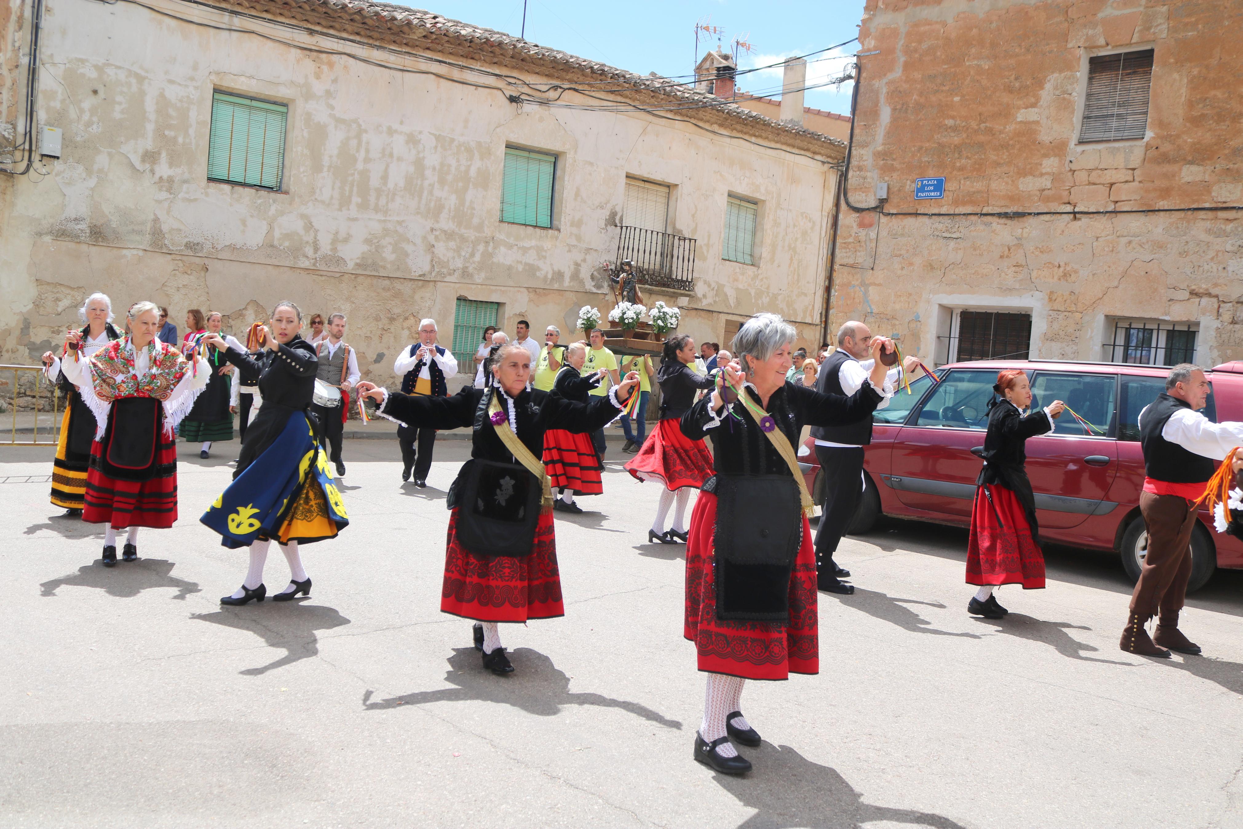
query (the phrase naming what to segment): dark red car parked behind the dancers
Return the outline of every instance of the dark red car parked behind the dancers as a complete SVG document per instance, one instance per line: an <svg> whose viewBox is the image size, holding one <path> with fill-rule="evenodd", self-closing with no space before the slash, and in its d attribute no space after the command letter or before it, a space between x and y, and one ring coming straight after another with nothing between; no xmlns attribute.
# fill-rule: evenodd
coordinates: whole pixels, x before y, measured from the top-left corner
<svg viewBox="0 0 1243 829"><path fill-rule="evenodd" d="M979 360L921 374L911 394L899 389L873 415L864 455L864 497L850 534L868 532L880 515L968 526L988 426L988 401L1002 369L1027 372L1033 405L1063 400L1096 426L1090 435L1069 414L1057 428L1027 441L1027 474L1035 491L1043 541L1120 553L1139 579L1147 549L1140 516L1144 454L1137 419L1165 390L1167 368L1120 363ZM1213 421L1243 420L1243 362L1211 369L1212 393L1203 413ZM809 437L798 451L817 503L824 472ZM1243 541L1212 531L1207 510L1192 534L1188 589L1203 587L1218 567L1243 568Z"/></svg>

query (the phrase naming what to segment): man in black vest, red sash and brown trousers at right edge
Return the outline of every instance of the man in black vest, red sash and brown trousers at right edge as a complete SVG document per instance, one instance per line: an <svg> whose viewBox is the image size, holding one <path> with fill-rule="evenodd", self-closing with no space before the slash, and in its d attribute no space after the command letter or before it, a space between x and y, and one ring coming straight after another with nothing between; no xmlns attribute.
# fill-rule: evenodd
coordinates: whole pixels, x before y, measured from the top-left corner
<svg viewBox="0 0 1243 829"><path fill-rule="evenodd" d="M1196 529L1192 505L1213 476L1213 461L1243 445L1243 423L1212 423L1198 411L1208 392L1203 369L1190 363L1175 365L1166 377L1165 394L1140 413L1140 512L1149 531L1149 549L1119 643L1131 654L1168 659L1166 648L1180 654L1199 653L1199 645L1178 630L1178 611L1191 579L1191 533ZM1157 629L1150 639L1144 625L1154 615Z"/></svg>

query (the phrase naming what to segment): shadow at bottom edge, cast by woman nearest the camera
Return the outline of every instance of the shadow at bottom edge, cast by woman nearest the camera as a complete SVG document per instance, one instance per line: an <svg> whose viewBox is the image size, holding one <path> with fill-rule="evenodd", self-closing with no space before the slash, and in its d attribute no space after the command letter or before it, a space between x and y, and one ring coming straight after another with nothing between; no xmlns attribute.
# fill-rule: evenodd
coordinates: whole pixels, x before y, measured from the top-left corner
<svg viewBox="0 0 1243 829"><path fill-rule="evenodd" d="M738 829L846 829L878 822L963 829L938 814L864 803L837 771L813 763L789 746L764 742L759 748L743 749L743 756L755 763L750 774L713 777L738 803L756 809Z"/></svg>

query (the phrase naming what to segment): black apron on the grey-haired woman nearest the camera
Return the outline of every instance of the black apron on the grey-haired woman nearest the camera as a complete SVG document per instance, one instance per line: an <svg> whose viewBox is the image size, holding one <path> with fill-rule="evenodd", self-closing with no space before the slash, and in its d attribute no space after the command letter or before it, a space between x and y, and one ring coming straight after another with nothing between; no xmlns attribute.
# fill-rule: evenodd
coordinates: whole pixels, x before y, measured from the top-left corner
<svg viewBox="0 0 1243 829"><path fill-rule="evenodd" d="M716 618L789 621L789 575L803 541L798 485L788 475L716 476Z"/></svg>

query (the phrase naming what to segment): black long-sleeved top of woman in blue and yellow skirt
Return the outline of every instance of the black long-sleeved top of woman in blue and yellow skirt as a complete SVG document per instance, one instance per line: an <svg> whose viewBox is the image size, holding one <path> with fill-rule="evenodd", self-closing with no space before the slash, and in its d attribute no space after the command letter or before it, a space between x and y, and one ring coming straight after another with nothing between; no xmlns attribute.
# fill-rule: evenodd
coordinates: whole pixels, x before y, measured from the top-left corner
<svg viewBox="0 0 1243 829"><path fill-rule="evenodd" d="M257 383L264 404L259 414L246 426L246 440L237 456L234 477L267 449L285 429L290 414L302 411L314 396L314 374L319 367L314 346L295 337L277 350L264 348L257 354L247 354L230 347L225 359L237 367L246 385ZM310 415L308 415L310 416Z"/></svg>

